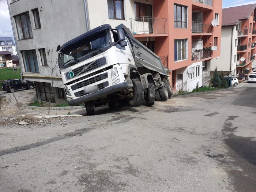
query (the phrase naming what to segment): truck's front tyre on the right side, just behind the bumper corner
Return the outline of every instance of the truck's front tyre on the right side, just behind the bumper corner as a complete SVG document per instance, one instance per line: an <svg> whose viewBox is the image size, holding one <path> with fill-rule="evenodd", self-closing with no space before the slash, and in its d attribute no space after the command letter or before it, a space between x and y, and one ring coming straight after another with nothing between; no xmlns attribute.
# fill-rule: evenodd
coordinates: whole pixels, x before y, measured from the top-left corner
<svg viewBox="0 0 256 192"><path fill-rule="evenodd" d="M133 99L129 101L131 107L139 107L144 100L143 85L138 79L132 79Z"/></svg>

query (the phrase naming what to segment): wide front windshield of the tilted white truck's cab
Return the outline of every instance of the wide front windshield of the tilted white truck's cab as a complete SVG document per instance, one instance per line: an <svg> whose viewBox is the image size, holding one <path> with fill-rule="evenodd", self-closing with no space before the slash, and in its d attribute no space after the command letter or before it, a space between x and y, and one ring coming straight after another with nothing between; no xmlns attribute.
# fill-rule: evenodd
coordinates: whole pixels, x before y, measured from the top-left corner
<svg viewBox="0 0 256 192"><path fill-rule="evenodd" d="M93 36L82 39L71 46L68 46L59 57L61 68L67 68L80 63L100 52L104 52L111 46L109 30L100 31Z"/></svg>

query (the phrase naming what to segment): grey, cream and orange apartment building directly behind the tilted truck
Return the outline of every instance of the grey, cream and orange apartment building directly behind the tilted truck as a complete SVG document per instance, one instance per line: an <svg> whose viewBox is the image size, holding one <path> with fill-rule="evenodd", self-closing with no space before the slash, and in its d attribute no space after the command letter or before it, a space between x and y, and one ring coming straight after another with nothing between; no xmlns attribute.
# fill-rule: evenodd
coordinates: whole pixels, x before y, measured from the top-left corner
<svg viewBox="0 0 256 192"><path fill-rule="evenodd" d="M174 90L184 84L181 89L188 91L197 83L202 86L205 69L220 55L221 6L221 0L10 0L9 5L23 78L35 82L43 101L49 98L47 66L58 57L57 45L102 24L129 27L161 57ZM219 25L212 26L215 18ZM52 86L58 88L52 102L64 102L59 69L54 76Z"/></svg>

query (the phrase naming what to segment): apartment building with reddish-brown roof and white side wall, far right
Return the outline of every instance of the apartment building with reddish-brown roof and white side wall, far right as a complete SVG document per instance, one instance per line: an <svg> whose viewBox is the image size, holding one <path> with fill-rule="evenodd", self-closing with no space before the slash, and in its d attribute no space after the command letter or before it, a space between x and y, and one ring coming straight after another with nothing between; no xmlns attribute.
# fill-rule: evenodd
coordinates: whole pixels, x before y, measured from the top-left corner
<svg viewBox="0 0 256 192"><path fill-rule="evenodd" d="M222 9L221 56L211 63L211 71L237 76L242 81L252 72L255 61L256 4Z"/></svg>

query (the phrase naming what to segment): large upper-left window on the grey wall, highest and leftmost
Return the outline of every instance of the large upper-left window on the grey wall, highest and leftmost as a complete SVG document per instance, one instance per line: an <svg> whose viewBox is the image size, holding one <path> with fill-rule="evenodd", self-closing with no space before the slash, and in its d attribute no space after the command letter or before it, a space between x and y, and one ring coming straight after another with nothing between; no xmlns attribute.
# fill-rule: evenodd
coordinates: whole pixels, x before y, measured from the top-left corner
<svg viewBox="0 0 256 192"><path fill-rule="evenodd" d="M22 15L15 16L15 22L16 22L19 40L33 38L29 12L26 12Z"/></svg>

